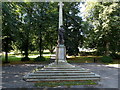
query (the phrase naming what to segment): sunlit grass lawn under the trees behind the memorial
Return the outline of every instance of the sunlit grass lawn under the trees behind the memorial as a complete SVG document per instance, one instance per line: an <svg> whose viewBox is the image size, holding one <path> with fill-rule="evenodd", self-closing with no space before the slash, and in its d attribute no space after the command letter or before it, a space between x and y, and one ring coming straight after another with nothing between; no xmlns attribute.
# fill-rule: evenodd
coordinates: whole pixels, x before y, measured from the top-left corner
<svg viewBox="0 0 120 90"><path fill-rule="evenodd" d="M47 59L46 61L35 62L34 59L39 56L37 52L29 54L30 61L22 62L20 54L9 54L10 64L32 64L32 63L49 63L50 62L50 53L44 52L43 56ZM101 64L118 64L119 60L113 60L112 63L103 63L101 62L102 56L69 56L67 57L68 63L101 63ZM5 62L4 56L2 56L2 63ZM4 64L4 63L3 63Z"/></svg>

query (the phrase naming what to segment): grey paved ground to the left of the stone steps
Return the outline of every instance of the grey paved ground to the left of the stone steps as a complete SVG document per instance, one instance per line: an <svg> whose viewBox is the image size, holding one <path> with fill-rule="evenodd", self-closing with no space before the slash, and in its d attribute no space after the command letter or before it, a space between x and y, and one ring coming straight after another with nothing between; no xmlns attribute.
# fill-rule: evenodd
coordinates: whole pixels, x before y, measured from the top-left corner
<svg viewBox="0 0 120 90"><path fill-rule="evenodd" d="M36 66L38 65L23 64L2 67L2 88L34 88L34 83L25 82L22 78Z"/></svg>

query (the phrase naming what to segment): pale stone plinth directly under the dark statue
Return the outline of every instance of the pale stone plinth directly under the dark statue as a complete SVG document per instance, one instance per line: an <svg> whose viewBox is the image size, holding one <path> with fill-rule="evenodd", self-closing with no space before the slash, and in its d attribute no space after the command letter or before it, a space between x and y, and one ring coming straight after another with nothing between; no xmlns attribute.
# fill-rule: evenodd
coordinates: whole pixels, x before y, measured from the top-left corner
<svg viewBox="0 0 120 90"><path fill-rule="evenodd" d="M56 49L56 62L66 61L66 48L64 45L58 45Z"/></svg>

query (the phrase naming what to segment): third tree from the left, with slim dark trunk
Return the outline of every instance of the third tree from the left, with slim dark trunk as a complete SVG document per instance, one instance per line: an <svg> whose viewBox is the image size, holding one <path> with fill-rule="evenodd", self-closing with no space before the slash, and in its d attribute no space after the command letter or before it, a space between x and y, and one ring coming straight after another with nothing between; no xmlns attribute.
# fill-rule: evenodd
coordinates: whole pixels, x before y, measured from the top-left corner
<svg viewBox="0 0 120 90"><path fill-rule="evenodd" d="M45 49L45 35L48 30L49 21L49 4L48 3L35 3L34 12L34 24L35 24L35 36L36 36L36 48L39 51L40 57L42 57L43 50ZM49 38L49 37L47 37ZM48 42L47 42L48 43Z"/></svg>

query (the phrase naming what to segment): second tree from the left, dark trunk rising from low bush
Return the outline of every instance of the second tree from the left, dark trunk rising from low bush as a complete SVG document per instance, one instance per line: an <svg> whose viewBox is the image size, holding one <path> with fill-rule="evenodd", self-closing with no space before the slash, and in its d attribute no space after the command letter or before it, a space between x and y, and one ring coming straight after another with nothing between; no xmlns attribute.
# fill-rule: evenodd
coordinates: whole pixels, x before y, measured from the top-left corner
<svg viewBox="0 0 120 90"><path fill-rule="evenodd" d="M18 21L19 29L16 33L16 42L15 46L22 52L24 51L22 61L30 60L28 55L29 51L33 51L33 37L34 37L34 26L33 26L33 9L34 3L16 3L16 11L19 13Z"/></svg>

